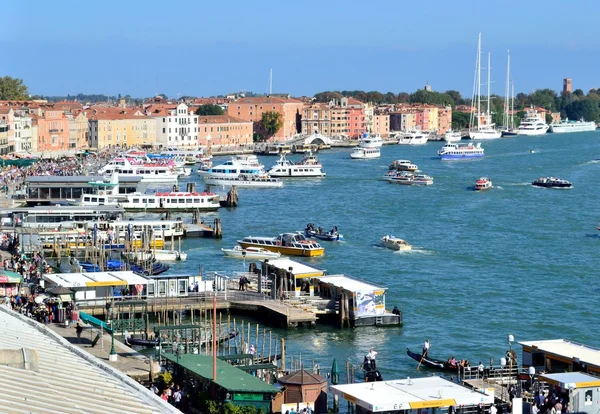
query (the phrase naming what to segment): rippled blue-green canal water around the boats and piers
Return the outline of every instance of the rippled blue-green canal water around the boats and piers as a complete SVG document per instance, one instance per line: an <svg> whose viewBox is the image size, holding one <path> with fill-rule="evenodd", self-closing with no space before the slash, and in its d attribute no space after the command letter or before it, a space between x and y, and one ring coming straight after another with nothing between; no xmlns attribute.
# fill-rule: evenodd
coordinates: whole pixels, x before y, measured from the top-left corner
<svg viewBox="0 0 600 414"><path fill-rule="evenodd" d="M275 329L286 338L288 355L301 352L305 361L329 369L333 358L342 367L345 361L360 364L373 348L383 377L391 379L424 375L405 350L420 349L426 338L432 357L456 356L472 365L490 358L498 363L508 334L516 341L568 338L600 345L594 334L599 140L596 132L493 140L482 143L483 159L471 161L440 161L440 142L385 146L377 160L351 160L350 149L324 151L318 156L326 178L288 180L282 189L240 189L240 206L217 213L223 239L186 240L188 261L170 272L194 273L200 265L205 271L245 270L248 263L226 258L220 249L244 236L302 230L308 222L335 225L344 241L322 242L325 256L300 260L387 287L387 308L404 312L404 326ZM434 184L383 181L396 159L418 164ZM261 161L269 168L276 158ZM530 185L550 175L572 181L573 188ZM472 190L481 176L493 181L492 190ZM195 172L189 180L202 186ZM386 234L406 239L414 250L381 248Z"/></svg>

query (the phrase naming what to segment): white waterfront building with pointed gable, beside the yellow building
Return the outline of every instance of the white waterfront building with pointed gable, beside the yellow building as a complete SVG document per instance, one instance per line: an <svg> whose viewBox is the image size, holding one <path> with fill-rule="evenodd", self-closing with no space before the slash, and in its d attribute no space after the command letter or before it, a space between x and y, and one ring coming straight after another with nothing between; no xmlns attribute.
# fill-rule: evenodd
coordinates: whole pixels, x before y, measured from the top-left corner
<svg viewBox="0 0 600 414"><path fill-rule="evenodd" d="M163 147L198 148L198 115L180 103L149 113L156 119L156 143Z"/></svg>

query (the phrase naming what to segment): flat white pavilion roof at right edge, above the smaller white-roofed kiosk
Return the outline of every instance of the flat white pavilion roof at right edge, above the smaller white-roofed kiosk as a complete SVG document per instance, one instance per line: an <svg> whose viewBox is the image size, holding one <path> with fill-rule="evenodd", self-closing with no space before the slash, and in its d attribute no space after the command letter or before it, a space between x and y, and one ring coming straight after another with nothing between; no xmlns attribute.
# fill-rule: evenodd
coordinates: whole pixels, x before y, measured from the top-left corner
<svg viewBox="0 0 600 414"><path fill-rule="evenodd" d="M586 365L600 367L600 349L566 339L519 342L524 353L544 352ZM525 362L525 361L524 361Z"/></svg>

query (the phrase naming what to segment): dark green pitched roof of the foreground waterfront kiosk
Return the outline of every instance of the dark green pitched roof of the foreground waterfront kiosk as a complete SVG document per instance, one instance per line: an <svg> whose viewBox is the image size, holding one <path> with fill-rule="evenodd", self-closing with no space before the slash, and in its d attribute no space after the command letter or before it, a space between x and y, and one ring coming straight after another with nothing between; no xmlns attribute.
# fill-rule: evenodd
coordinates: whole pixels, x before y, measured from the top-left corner
<svg viewBox="0 0 600 414"><path fill-rule="evenodd" d="M163 354L164 358L179 363L185 369L209 380L213 377L212 356L184 354L179 358L172 354ZM225 361L217 359L217 380L215 383L227 391L238 391L247 393L271 393L279 392L277 388L269 385L253 375L242 371Z"/></svg>

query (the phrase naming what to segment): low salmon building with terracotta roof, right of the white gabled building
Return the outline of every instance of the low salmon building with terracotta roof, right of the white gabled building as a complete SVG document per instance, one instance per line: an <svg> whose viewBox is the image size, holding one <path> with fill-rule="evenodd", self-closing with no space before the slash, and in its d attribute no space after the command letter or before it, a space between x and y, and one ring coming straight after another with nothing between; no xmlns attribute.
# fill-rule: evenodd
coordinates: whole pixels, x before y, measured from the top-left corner
<svg viewBox="0 0 600 414"><path fill-rule="evenodd" d="M199 146L230 146L252 144L253 125L230 115L204 115L198 117Z"/></svg>

